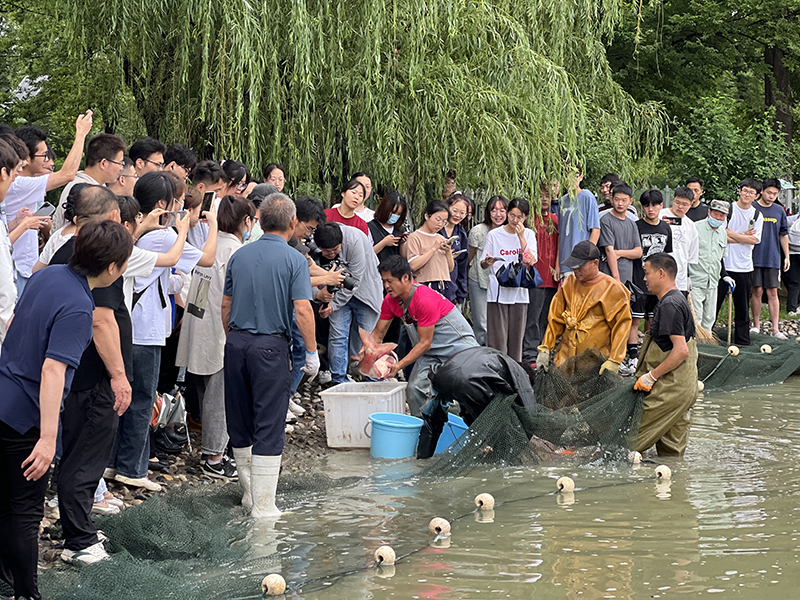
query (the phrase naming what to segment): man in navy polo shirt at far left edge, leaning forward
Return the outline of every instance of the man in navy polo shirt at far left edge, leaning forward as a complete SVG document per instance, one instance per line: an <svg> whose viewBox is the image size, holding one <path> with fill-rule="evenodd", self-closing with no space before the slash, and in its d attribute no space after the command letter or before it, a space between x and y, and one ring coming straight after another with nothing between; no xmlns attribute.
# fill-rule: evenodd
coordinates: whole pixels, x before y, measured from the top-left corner
<svg viewBox="0 0 800 600"><path fill-rule="evenodd" d="M16 597L41 598L38 529L56 450L58 415L92 339L91 290L125 271L133 247L119 223L90 223L69 265L35 273L0 355L0 578ZM57 294L53 290L58 290Z"/></svg>

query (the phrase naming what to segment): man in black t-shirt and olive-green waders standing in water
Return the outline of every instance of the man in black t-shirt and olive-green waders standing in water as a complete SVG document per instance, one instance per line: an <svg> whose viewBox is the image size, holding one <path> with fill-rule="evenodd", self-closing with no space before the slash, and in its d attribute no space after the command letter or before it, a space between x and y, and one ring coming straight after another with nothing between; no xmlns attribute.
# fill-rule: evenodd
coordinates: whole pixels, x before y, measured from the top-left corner
<svg viewBox="0 0 800 600"><path fill-rule="evenodd" d="M689 411L697 399L697 342L689 303L675 286L678 265L658 252L644 262L647 289L658 304L639 353L633 389L647 393L636 450L653 444L659 456L683 456Z"/></svg>

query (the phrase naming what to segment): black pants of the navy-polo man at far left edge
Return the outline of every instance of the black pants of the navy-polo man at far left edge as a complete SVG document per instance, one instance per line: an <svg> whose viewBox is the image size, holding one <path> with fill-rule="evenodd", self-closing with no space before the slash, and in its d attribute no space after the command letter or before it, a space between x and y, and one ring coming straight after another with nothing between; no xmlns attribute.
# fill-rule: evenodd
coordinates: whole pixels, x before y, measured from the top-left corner
<svg viewBox="0 0 800 600"><path fill-rule="evenodd" d="M20 434L0 421L0 578L18 598L34 600L41 598L36 566L47 474L28 481L21 465L38 441L38 428Z"/></svg>

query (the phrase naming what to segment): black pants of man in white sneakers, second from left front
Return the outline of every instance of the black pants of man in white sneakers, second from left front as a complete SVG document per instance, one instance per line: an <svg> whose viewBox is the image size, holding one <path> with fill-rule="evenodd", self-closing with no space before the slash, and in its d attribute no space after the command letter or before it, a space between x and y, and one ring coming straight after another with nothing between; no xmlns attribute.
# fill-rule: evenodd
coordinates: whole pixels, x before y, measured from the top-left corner
<svg viewBox="0 0 800 600"><path fill-rule="evenodd" d="M111 457L118 424L114 392L106 374L93 388L70 392L64 399L58 509L68 550L83 550L99 541L91 518L92 504Z"/></svg>

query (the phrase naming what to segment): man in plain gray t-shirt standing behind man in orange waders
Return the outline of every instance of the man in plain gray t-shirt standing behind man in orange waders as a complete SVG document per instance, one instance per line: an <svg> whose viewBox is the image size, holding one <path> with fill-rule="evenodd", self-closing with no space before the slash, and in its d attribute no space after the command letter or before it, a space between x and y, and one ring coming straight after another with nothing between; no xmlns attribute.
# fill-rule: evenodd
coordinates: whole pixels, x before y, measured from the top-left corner
<svg viewBox="0 0 800 600"><path fill-rule="evenodd" d="M627 218L631 195L625 184L614 188L613 208L600 217L600 239L597 242L602 254L600 270L621 283L633 281L633 261L642 256L639 230L636 223Z"/></svg>

